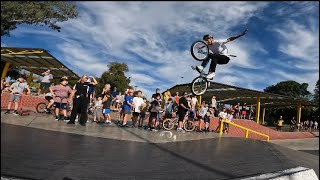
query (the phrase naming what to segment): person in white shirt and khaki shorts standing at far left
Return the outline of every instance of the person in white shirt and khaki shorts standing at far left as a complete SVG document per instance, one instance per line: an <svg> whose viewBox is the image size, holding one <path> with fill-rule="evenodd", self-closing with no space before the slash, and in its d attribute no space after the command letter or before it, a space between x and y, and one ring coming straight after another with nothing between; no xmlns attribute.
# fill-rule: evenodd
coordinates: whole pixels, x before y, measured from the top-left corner
<svg viewBox="0 0 320 180"><path fill-rule="evenodd" d="M14 102L14 115L19 115L18 113L18 106L19 102L21 101L21 96L23 94L23 91L27 89L27 94L30 94L30 89L25 82L25 78L23 75L20 75L19 78L17 79L17 82L14 82L10 87L9 91L10 96L9 96L9 104L8 104L8 110L5 112L5 114L10 114L10 109L11 109L11 103Z"/></svg>

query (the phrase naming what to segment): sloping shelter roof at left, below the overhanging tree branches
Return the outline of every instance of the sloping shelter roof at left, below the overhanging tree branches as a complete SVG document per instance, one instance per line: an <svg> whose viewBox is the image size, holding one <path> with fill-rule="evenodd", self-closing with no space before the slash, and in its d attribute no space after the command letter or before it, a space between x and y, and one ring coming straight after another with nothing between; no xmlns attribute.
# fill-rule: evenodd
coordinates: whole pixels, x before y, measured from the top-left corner
<svg viewBox="0 0 320 180"><path fill-rule="evenodd" d="M37 75L50 69L54 79L62 76L68 76L69 79L80 78L45 49L1 47L1 62L9 62Z"/></svg>

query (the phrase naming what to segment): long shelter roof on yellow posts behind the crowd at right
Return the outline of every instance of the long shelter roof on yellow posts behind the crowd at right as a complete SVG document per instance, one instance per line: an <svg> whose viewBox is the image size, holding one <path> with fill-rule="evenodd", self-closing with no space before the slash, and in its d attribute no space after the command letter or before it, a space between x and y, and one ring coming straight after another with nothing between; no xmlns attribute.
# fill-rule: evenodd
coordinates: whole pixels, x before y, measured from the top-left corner
<svg viewBox="0 0 320 180"><path fill-rule="evenodd" d="M180 84L168 89L171 94L179 92L181 95L184 91L191 92L190 84ZM202 95L202 101L211 102L212 96L216 96L218 103L236 105L246 103L248 106L257 104L257 97L260 96L260 105L262 107L292 107L301 103L302 106L317 106L315 102L305 98L293 98L274 93L251 90L217 82L210 82L207 91Z"/></svg>

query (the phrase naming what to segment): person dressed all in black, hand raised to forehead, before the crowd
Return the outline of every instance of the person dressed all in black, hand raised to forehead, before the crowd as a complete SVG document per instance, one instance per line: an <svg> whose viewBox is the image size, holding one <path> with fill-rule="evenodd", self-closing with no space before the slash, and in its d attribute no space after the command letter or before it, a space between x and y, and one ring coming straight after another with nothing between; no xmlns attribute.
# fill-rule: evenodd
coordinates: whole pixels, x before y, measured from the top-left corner
<svg viewBox="0 0 320 180"><path fill-rule="evenodd" d="M70 121L67 124L74 124L76 116L79 113L79 124L86 125L88 119L88 104L89 104L89 86L85 83L88 79L87 75L83 75L81 79L74 85L71 93L73 98L73 108L71 111Z"/></svg>

